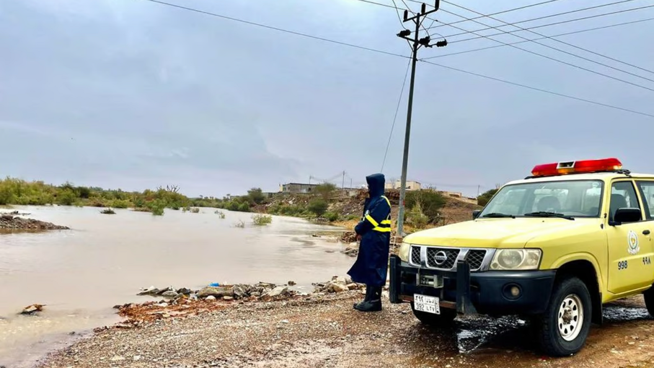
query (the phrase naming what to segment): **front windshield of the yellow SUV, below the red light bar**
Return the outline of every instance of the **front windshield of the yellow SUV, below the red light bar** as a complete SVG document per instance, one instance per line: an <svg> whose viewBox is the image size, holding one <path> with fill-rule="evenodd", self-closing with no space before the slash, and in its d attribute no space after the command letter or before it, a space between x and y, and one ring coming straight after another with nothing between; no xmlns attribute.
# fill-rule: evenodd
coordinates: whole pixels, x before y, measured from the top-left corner
<svg viewBox="0 0 654 368"><path fill-rule="evenodd" d="M534 181L506 185L478 218L599 217L604 183L600 180Z"/></svg>

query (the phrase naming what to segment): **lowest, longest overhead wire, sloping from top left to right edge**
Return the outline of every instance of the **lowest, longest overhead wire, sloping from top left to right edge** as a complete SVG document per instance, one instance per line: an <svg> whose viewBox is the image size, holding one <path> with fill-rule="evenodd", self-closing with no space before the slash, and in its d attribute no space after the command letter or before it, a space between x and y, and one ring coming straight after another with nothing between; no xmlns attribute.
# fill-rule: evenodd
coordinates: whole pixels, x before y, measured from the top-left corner
<svg viewBox="0 0 654 368"><path fill-rule="evenodd" d="M387 54L387 55L397 56L397 57L400 57L400 58L407 58L407 56L400 55L400 54L394 54L394 53L392 53L392 52L386 52L386 51L383 51L383 50L376 50L376 49L374 49L374 48L364 47L364 46L359 46L359 45L353 45L353 44L350 44L350 43L344 43L344 42L341 42L341 41L335 41L335 40L332 40L332 39L325 39L325 38L323 38L323 37L317 37L317 36L313 36L313 35L307 35L307 34L305 34L305 33L300 33L300 32L296 32L296 31L289 31L288 29L282 29L282 28L276 28L276 27L272 27L272 26L266 26L266 25L264 25L264 24L257 24L257 23L254 23L254 22L249 22L249 21L247 21L247 20L242 20L242 19L238 19L238 18L232 18L232 17L224 16L224 15L222 15L222 14L216 14L216 13L212 13L212 12L206 12L206 11L203 11L203 10L198 10L198 9L193 9L193 8L181 7L181 6L179 6L179 5L175 5L175 4L171 4L171 3L165 3L164 1L159 1L159 0L140 0L140 1L149 1L149 2L151 2L151 3L158 3L158 4L161 4L161 5L166 5L166 6L174 7L174 8L177 8L177 9L183 9L183 10L188 10L188 11L192 11L192 12L198 12L198 13L206 14L206 15L210 15L210 16L216 16L216 17L218 17L218 18L222 18L222 19L233 20L233 21L235 21L235 22L241 22L241 23L244 23L244 24L250 24L250 25L252 25L252 26L258 26L258 27L263 27L263 28L267 28L267 29L273 29L273 30L276 30L276 31L284 32L284 33L290 33L290 34L294 34L294 35L299 35L299 36L301 36L301 37L308 37L308 38L311 38L311 39L317 39L317 40L320 40L320 41L326 41L326 42L330 42L330 43L335 43L335 44L337 44L337 45L350 46L350 47L354 47L354 48L359 48L359 49L361 49L361 50L368 50L368 51L371 51L371 52L377 52L377 53L380 53L380 54ZM450 70L458 71L458 72L460 72L460 73L466 73L466 74L469 74L469 75L475 75L475 76L480 77L480 78L490 79L490 80L492 80L492 81L497 81L497 82L500 82L500 83L511 84L511 85L513 85L513 86L520 86L520 87L523 87L523 88L527 88L527 89L529 89L529 90L536 90L536 91L538 91L538 92L543 92L543 93L552 94L552 95L555 95L555 96L560 96L560 97L564 97L564 98L569 98L569 99L571 99L571 100L583 101L583 102L591 103L591 104L594 104L594 105L599 105L599 106L608 107L608 108L611 108L611 109L617 109L617 110L625 111L625 112L628 112L628 113L634 113L634 114L637 114L637 115L643 115L643 116L646 116L646 117L652 117L652 118L654 118L654 114L644 113L644 112L642 112L642 111L636 111L636 110L632 110L632 109L626 109L626 108L624 108L624 107L619 107L619 106L616 106L616 105L609 105L608 103L601 103L601 102L597 102L597 101L593 101L593 100L587 100L587 99L585 99L585 98L579 98L579 97L576 97L576 96L571 96L571 95L567 95L567 94L561 94L561 93L558 93L558 92L553 92L553 91L550 91L550 90L545 90L545 89L543 89L543 88L538 88L538 87L534 87L534 86L529 86L529 85L527 85L527 84L521 84L521 83L516 83L516 82L506 81L506 80L504 80L504 79L499 79L499 78L495 78L495 77L490 77L490 76L488 76L488 75L483 75L483 74L480 74L480 73L475 73L475 72L467 71L467 70L464 70L464 69L458 69L458 68L451 67L451 66L447 66L447 65L437 64L437 63L429 62L429 61L426 61L426 60L422 60L422 62L425 63L425 64L436 65L436 66L439 66L439 67L443 67L443 68L445 68L445 69L450 69Z"/></svg>

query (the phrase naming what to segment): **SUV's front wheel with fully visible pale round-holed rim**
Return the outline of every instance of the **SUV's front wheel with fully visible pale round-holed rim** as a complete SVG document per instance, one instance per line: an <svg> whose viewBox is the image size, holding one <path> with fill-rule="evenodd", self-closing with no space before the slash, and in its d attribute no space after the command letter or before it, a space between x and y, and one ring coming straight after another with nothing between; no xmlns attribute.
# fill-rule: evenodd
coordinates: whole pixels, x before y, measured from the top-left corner
<svg viewBox="0 0 654 368"><path fill-rule="evenodd" d="M583 348L591 329L591 294L576 277L557 282L545 313L536 318L540 346L549 356L570 356Z"/></svg>

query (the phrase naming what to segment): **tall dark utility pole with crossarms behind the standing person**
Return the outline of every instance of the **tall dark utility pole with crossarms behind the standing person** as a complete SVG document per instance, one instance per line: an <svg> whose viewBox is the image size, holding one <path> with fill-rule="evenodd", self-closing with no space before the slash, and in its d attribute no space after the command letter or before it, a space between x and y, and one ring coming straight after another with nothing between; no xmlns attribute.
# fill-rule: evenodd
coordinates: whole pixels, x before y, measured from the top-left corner
<svg viewBox="0 0 654 368"><path fill-rule="evenodd" d="M411 83L409 83L409 101L407 106L407 126L404 132L404 156L402 157L402 179L400 180L400 212L398 213L398 236L404 238L404 198L406 196L407 164L409 162L409 137L411 136L411 112L413 110L413 86L415 85L415 65L418 62L418 50L421 46L432 47L429 35L420 38L420 26L426 16L438 11L440 0L434 3L434 9L427 11L427 5L422 3L421 11L409 18L409 10L404 10L404 22L413 21L415 31L413 39L410 39L411 31L404 29L398 33L398 37L409 41L412 44L411 52ZM447 46L447 40L438 41L436 47Z"/></svg>

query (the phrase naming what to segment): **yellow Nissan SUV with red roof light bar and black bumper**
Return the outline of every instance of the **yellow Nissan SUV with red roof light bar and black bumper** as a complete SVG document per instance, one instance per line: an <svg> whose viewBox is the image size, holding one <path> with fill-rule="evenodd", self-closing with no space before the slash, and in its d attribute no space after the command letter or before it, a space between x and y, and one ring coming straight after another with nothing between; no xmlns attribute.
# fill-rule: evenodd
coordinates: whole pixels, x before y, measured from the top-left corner
<svg viewBox="0 0 654 368"><path fill-rule="evenodd" d="M518 315L549 356L583 348L602 305L640 293L654 316L654 175L617 158L537 165L463 223L404 238L390 303L422 323Z"/></svg>

